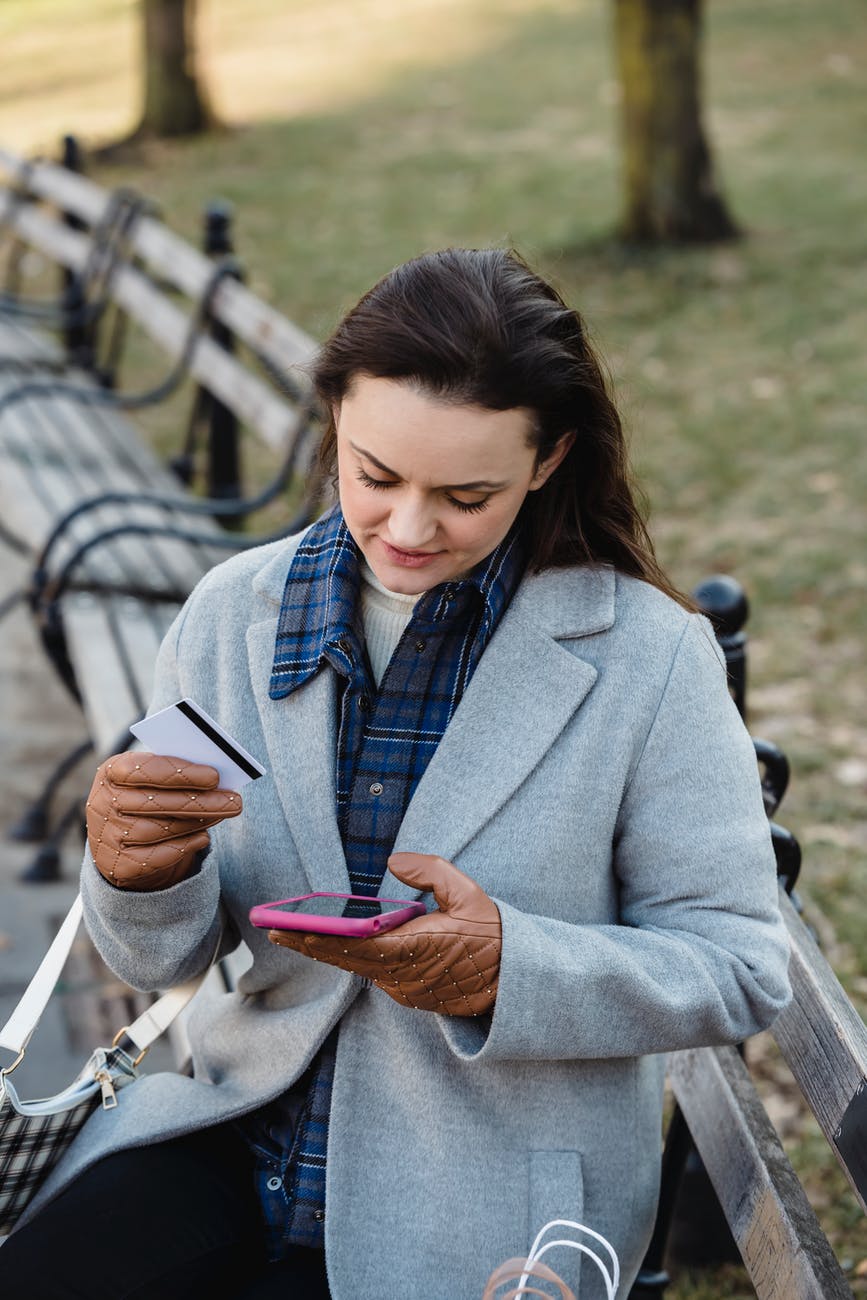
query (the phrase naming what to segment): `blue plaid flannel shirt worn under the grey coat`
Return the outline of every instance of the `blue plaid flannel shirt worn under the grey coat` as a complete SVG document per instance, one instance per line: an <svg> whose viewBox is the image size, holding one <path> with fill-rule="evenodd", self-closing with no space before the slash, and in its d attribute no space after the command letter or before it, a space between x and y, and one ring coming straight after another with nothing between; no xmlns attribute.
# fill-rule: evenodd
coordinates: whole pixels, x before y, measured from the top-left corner
<svg viewBox="0 0 867 1300"><path fill-rule="evenodd" d="M326 664L342 679L337 816L352 893L376 897L413 790L523 572L513 529L461 580L416 602L377 689L364 646L359 551L339 510L309 529L289 572L270 698ZM269 1254L321 1247L335 1027L294 1087L240 1121L256 1157Z"/></svg>

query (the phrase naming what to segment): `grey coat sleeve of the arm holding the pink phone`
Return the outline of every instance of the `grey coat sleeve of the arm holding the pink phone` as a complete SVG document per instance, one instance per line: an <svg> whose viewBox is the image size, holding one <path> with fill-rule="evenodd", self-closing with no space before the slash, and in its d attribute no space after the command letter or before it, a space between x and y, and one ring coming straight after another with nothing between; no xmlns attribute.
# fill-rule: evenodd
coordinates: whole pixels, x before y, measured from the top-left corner
<svg viewBox="0 0 867 1300"><path fill-rule="evenodd" d="M580 853L580 845L576 846ZM441 1017L463 1058L632 1057L734 1043L789 1000L789 944L753 744L690 618L625 790L617 924L499 904L493 1017Z"/></svg>

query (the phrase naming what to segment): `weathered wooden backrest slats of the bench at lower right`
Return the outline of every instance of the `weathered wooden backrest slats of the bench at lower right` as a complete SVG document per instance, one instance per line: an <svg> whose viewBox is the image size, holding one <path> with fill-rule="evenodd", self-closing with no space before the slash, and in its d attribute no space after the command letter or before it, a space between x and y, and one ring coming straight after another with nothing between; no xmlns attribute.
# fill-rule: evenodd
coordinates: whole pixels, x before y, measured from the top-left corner
<svg viewBox="0 0 867 1300"><path fill-rule="evenodd" d="M790 898L793 1000L771 1032L862 1206L867 1027ZM734 1048L669 1057L669 1078L760 1300L844 1300L851 1288Z"/></svg>

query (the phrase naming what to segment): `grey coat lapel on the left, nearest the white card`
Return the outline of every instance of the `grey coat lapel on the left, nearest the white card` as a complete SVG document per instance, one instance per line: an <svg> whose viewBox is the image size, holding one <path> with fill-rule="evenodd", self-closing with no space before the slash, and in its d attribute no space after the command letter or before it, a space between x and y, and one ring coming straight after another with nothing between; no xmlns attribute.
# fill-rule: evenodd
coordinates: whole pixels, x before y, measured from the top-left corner
<svg viewBox="0 0 867 1300"><path fill-rule="evenodd" d="M247 630L247 654L270 768L312 890L350 892L337 824L337 675L320 672L287 699L268 694L277 619Z"/></svg>

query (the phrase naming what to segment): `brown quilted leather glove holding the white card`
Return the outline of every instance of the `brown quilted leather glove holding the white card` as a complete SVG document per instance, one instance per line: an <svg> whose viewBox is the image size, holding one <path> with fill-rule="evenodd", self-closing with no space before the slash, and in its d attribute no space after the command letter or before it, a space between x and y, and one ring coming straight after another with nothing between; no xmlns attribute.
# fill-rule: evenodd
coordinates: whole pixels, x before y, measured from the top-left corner
<svg viewBox="0 0 867 1300"><path fill-rule="evenodd" d="M87 842L118 889L166 889L208 848L208 827L238 816L240 794L217 789L214 767L165 754L114 754L87 798Z"/></svg>

